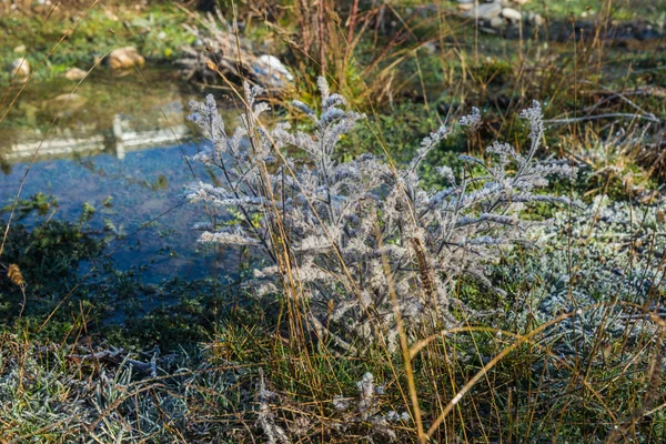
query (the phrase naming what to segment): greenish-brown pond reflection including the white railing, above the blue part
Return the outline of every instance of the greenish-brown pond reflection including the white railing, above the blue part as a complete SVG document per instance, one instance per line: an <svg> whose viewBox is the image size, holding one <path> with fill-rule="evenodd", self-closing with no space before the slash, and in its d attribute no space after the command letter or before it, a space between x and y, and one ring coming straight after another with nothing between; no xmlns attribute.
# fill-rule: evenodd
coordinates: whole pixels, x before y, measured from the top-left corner
<svg viewBox="0 0 666 444"><path fill-rule="evenodd" d="M122 159L125 150L176 143L188 132L190 98L159 72L144 78L102 75L75 89L60 81L30 85L0 124L0 162L7 169L28 161L38 148L38 160L101 152Z"/></svg>

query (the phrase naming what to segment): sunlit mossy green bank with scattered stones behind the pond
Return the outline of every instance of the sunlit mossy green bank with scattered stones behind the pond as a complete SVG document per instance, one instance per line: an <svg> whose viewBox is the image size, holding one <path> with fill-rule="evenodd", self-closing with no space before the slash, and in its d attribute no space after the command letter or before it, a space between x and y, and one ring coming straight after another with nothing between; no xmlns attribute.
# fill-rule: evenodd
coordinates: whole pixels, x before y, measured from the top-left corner
<svg viewBox="0 0 666 444"><path fill-rule="evenodd" d="M183 46L194 41L183 23L190 17L174 4L94 7L62 17L7 13L0 17L0 82L8 83L9 65L26 57L36 71L34 81L61 77L71 68L89 70L95 60L122 47L135 47L149 64L178 60ZM68 37L59 43L62 37ZM23 51L16 51L24 47ZM42 67L38 69L41 64Z"/></svg>

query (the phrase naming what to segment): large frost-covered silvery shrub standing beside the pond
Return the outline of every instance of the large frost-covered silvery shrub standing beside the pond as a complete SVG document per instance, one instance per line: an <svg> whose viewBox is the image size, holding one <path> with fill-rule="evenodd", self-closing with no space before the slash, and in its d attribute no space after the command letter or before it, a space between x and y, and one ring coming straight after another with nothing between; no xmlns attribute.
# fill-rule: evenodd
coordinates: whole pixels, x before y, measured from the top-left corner
<svg viewBox="0 0 666 444"><path fill-rule="evenodd" d="M535 160L544 133L541 104L521 114L531 128L524 154L495 142L487 149L494 162L463 155L462 176L442 165L436 171L447 186L430 190L421 184L420 165L448 128L426 137L403 167L373 154L341 163L335 145L364 115L346 111L324 79L319 87L321 113L294 102L314 123L312 134L286 123L262 125L269 107L256 100L258 87L245 84L246 110L233 135L212 95L191 103L190 119L211 142L195 160L218 168L221 183L192 184L188 196L242 215L235 225L198 225L201 242L261 251L266 260L254 272L255 291L305 301L309 327L344 349L360 340L395 344L400 320L406 327L424 320L455 325L452 302L480 315L452 296L452 283L466 275L492 290L485 265L526 241L525 205L568 203L536 192L548 176L574 173L566 164ZM478 110L462 123L478 128ZM294 148L305 161L286 155Z"/></svg>

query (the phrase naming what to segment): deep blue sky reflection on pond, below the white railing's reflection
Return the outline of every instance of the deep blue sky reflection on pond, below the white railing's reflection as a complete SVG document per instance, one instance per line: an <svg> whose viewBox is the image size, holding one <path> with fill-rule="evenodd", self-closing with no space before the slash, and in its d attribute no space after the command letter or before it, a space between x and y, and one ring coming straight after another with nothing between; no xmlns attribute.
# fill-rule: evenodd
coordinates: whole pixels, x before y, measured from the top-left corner
<svg viewBox="0 0 666 444"><path fill-rule="evenodd" d="M182 151L178 145L155 147L130 151L124 159L104 153L38 162L32 165L22 195L42 192L56 196L59 206L54 216L69 221L77 221L83 203L89 203L95 209L90 228L103 231L113 226L120 234L109 250L159 218L113 253L119 268L149 265L144 273L149 282L172 275L202 278L211 272L211 253L196 251L198 233L190 228L204 219L204 213L198 205L183 204L181 196L183 184L192 181L182 152L191 155L195 151L196 144L188 143ZM20 163L0 175L0 205L12 202L27 167ZM201 169L194 172L199 178L205 174ZM230 264L238 262L238 258L229 259Z"/></svg>

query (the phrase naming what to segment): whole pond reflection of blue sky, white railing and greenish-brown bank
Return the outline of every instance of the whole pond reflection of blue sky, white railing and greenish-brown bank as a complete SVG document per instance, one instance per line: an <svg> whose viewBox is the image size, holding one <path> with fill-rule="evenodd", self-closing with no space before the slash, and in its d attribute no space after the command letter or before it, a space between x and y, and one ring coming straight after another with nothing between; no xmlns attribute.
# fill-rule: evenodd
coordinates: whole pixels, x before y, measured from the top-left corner
<svg viewBox="0 0 666 444"><path fill-rule="evenodd" d="M205 213L182 199L184 184L208 181L211 174L202 165L191 170L184 159L198 150L198 143L188 140L184 120L183 104L190 98L171 82L152 80L147 93L127 79L105 81L77 91L74 109L59 104L56 114L63 110L62 119L53 128L48 124L54 115L52 103L36 111L39 105L26 98L11 110L0 124L0 208L12 203L39 147L22 198L53 195L59 202L54 218L65 221L79 220L83 204L90 204L95 209L90 228L100 232L112 228L119 234L109 251L130 236L113 252L118 266L145 269L147 282L209 275L212 252L202 250L191 230ZM229 265L224 269L231 271L238 253L229 251L224 258Z"/></svg>

